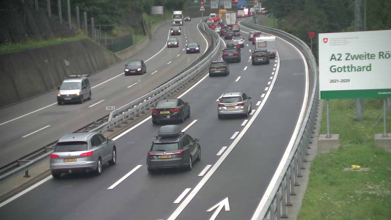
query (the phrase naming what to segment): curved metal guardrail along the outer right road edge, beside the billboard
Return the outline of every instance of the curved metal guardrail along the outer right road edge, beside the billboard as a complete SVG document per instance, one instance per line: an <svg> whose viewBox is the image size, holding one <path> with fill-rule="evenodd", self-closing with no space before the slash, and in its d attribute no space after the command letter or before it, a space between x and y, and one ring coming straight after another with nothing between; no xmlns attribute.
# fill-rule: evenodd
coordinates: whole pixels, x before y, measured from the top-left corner
<svg viewBox="0 0 391 220"><path fill-rule="evenodd" d="M319 86L318 86L318 72L316 59L312 54L311 49L305 42L299 38L289 34L287 32L256 25L249 22L240 22L240 24L251 29L264 31L275 36L279 36L298 47L307 59L309 70L312 70L314 76L314 85L310 98L310 103L307 106L307 112L305 113L304 120L301 124L300 132L296 138L296 142L292 148L291 153L283 170L281 171L276 185L272 189L270 195L267 196L267 201L262 207L257 220L263 219L278 219L287 218L286 206L291 206L291 195L295 194L294 186L299 186L298 177L301 177L301 170L304 169L303 163L307 162L306 155L308 154L308 148L310 139L312 136L312 130L314 129L314 123L317 113L318 97L319 97Z"/></svg>

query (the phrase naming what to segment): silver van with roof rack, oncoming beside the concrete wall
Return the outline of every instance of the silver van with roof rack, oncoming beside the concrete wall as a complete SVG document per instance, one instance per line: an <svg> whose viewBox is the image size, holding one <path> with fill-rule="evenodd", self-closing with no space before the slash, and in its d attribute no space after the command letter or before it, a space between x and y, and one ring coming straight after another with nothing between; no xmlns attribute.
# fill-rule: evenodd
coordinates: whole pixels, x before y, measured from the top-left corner
<svg viewBox="0 0 391 220"><path fill-rule="evenodd" d="M58 87L57 103L61 105L67 102L83 103L85 99L91 100L92 93L88 75L72 75L64 79L61 87Z"/></svg>

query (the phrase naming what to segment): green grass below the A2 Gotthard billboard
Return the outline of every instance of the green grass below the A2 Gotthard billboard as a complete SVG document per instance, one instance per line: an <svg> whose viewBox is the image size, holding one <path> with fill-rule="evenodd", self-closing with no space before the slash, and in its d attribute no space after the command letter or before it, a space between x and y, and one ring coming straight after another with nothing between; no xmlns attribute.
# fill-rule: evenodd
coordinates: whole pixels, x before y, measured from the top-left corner
<svg viewBox="0 0 391 220"><path fill-rule="evenodd" d="M330 100L330 131L340 147L317 155L311 165L300 220L391 219L391 152L375 147L382 133L382 99L365 99L364 121L355 121L355 100ZM391 131L388 112L387 131ZM326 107L321 134L326 133ZM353 164L370 171L343 171Z"/></svg>

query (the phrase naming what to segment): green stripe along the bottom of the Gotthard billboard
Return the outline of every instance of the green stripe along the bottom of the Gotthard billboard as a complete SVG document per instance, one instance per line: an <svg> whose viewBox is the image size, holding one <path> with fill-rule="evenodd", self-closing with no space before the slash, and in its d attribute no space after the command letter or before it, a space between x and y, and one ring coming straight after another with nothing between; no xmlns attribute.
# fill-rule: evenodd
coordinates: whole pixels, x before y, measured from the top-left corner
<svg viewBox="0 0 391 220"><path fill-rule="evenodd" d="M389 89L335 90L321 91L320 99L365 99L391 97Z"/></svg>

